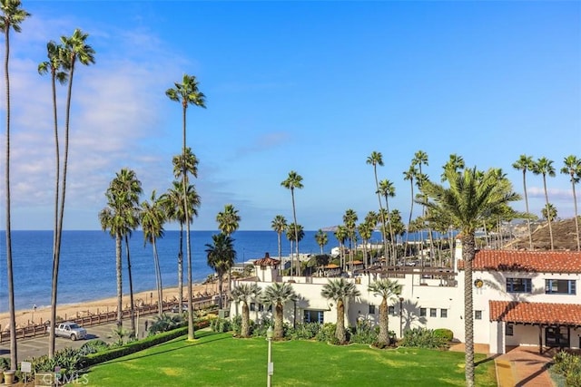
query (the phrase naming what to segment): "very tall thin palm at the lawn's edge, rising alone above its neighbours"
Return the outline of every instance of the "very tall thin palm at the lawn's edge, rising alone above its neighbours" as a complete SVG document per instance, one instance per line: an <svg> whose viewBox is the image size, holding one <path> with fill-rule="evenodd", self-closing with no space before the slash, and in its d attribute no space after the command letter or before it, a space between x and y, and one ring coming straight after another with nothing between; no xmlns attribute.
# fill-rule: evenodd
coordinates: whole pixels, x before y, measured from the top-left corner
<svg viewBox="0 0 581 387"><path fill-rule="evenodd" d="M186 111L189 105L205 108L205 95L198 89L198 81L193 75L183 74L182 83L174 82L175 88L165 91L165 95L174 101L182 103L182 189L183 209L186 219L186 251L188 256L188 340L194 339L193 305L192 305L192 245L190 242L190 211L187 203L186 189L188 184L188 169L186 165Z"/></svg>

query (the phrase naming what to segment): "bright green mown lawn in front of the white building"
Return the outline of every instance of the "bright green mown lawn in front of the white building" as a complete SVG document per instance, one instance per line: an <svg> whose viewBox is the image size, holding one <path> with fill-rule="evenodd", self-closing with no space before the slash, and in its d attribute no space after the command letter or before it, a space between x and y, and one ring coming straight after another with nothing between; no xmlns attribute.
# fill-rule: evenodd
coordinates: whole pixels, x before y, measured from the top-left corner
<svg viewBox="0 0 581 387"><path fill-rule="evenodd" d="M141 353L94 366L90 386L263 386L267 343L263 338L197 332ZM483 361L477 355L477 361ZM368 345L272 343L273 386L463 386L464 353L420 349L377 350ZM496 386L494 362L477 368L478 386Z"/></svg>

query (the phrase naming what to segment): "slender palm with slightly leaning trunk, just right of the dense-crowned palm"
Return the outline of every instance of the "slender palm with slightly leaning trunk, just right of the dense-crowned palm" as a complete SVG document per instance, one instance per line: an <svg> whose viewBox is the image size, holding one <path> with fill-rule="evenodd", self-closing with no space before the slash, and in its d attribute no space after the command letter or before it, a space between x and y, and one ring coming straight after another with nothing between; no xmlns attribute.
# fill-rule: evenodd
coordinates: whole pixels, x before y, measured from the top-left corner
<svg viewBox="0 0 581 387"><path fill-rule="evenodd" d="M157 239L163 237L163 223L165 223L166 216L162 208L162 201L159 198L155 198L155 190L153 190L150 201L143 200L139 217L143 229L143 245L146 245L147 242L152 244L153 267L155 268L155 285L157 289L157 313L162 315L163 285L160 258L157 255ZM182 307L181 305L180 307Z"/></svg>

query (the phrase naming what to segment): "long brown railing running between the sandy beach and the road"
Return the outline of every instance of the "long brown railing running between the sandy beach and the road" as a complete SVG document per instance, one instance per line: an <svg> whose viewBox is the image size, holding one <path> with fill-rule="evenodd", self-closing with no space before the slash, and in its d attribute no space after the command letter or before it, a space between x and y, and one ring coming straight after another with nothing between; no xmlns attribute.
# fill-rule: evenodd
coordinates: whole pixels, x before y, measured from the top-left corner
<svg viewBox="0 0 581 387"><path fill-rule="evenodd" d="M214 305L219 305L219 303L218 303L219 299L220 299L220 297L218 295L214 295L214 296L208 295L208 296L199 297L195 301L193 301L192 309L194 311L199 311L202 309L212 307ZM227 301L228 295L223 295L222 300ZM187 301L187 300L184 300L184 301ZM169 312L172 310L172 307L176 306L176 305L178 305L177 302L163 302L162 310L163 310L163 312ZM157 314L157 312L158 312L157 304L141 305L141 306L135 307L135 314L139 314L139 315ZM123 309L123 319L128 319L130 317L131 317L131 309ZM99 324L113 323L113 322L117 321L117 310L115 309L115 310L110 311L110 312L108 311L108 312L97 313L97 314L87 314L87 315L83 315L83 316L80 315L79 312L77 312L76 317L71 317L71 316L65 315L64 321L72 321L72 322L80 324L84 327L92 326L92 325L99 325ZM16 339L22 340L22 339L31 339L31 338L38 337L38 336L44 336L44 335L48 334L48 332L47 332L48 326L49 326L48 324L34 324L34 325L25 326L23 328L17 328L16 329ZM9 331L0 332L0 343L5 343L5 342L9 342L9 341L10 341L10 332Z"/></svg>

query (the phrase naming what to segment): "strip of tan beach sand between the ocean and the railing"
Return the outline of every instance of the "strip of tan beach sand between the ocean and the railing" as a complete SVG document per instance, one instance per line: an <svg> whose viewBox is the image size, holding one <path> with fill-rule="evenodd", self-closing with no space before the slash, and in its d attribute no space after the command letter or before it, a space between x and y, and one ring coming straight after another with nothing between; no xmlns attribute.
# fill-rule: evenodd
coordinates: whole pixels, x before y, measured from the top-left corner
<svg viewBox="0 0 581 387"><path fill-rule="evenodd" d="M223 291L224 293L228 289L227 281L224 281ZM174 301L177 302L178 290L176 287L168 287L163 289L163 301ZM209 283L207 285L192 285L192 294L195 295L217 295L218 294L218 284L217 282ZM183 301L187 303L188 298L188 288L187 285L183 286ZM135 305L151 304L157 303L157 290L149 290L146 292L139 292L133 294L133 302ZM129 294L123 295L123 308L129 309ZM99 314L104 312L111 312L117 310L117 297L103 298L101 300L86 301L78 304L67 304L67 305L57 305L56 315L62 317L64 320L72 319L77 316L82 317L89 314ZM34 324L43 324L45 321L50 320L51 308L50 306L36 308L36 310L19 310L16 311L16 328L25 327ZM0 314L0 331L6 331L9 325L9 314L4 312Z"/></svg>

